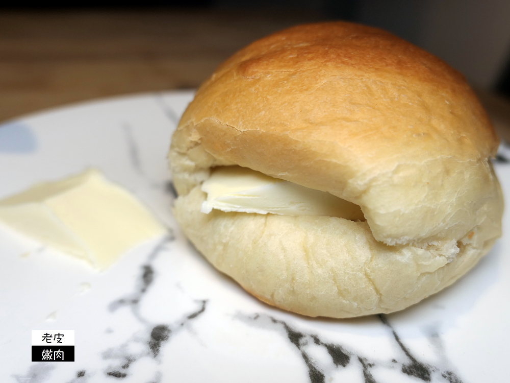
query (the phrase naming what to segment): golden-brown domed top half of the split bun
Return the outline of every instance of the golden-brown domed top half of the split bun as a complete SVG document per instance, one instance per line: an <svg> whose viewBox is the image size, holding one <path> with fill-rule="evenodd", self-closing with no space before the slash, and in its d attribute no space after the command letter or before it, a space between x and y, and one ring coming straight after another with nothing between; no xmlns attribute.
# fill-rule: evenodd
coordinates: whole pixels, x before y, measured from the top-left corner
<svg viewBox="0 0 510 383"><path fill-rule="evenodd" d="M497 135L464 77L380 29L301 25L196 92L169 154L179 194L241 165L361 206L377 241L463 237L497 189Z"/></svg>

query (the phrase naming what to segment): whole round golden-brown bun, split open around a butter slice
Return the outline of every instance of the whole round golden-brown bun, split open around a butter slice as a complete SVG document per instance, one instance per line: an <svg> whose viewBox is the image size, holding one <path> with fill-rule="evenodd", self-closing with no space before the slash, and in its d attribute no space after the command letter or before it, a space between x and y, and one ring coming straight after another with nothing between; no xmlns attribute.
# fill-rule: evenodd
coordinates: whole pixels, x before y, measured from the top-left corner
<svg viewBox="0 0 510 383"><path fill-rule="evenodd" d="M169 153L174 214L261 300L309 316L388 313L473 267L501 235L498 139L462 75L346 22L248 45L197 91ZM366 222L213 210L200 184L240 165L359 205Z"/></svg>

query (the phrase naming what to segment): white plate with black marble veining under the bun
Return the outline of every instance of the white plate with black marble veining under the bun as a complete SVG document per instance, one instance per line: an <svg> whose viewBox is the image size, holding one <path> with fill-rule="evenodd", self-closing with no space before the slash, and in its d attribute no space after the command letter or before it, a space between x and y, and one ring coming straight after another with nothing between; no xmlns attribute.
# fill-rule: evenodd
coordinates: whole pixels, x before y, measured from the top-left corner
<svg viewBox="0 0 510 383"><path fill-rule="evenodd" d="M1 228L0 381L508 381L507 232L462 280L387 316L285 313L212 268L170 212L166 151L191 98L136 95L0 126L0 198L94 166L169 227L104 273ZM510 200L505 155L496 171ZM74 330L75 362L31 362L33 329Z"/></svg>

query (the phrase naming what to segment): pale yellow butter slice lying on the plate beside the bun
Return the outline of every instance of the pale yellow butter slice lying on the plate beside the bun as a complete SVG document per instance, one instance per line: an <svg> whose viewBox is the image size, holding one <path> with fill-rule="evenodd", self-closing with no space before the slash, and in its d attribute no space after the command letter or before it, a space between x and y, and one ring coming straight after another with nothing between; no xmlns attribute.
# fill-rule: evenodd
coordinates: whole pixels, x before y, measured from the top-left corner
<svg viewBox="0 0 510 383"><path fill-rule="evenodd" d="M0 221L99 270L167 231L131 194L97 170L40 183L0 201Z"/></svg>

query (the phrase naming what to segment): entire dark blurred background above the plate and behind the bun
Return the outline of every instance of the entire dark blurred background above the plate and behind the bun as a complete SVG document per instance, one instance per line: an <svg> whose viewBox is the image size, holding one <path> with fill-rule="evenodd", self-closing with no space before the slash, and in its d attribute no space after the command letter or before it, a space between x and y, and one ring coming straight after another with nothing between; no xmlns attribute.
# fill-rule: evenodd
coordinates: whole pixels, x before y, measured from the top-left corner
<svg viewBox="0 0 510 383"><path fill-rule="evenodd" d="M75 1L0 6L0 121L112 95L195 88L252 40L303 22L381 27L460 70L510 141L508 0Z"/></svg>

